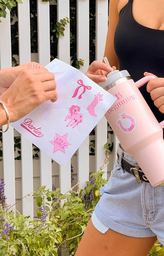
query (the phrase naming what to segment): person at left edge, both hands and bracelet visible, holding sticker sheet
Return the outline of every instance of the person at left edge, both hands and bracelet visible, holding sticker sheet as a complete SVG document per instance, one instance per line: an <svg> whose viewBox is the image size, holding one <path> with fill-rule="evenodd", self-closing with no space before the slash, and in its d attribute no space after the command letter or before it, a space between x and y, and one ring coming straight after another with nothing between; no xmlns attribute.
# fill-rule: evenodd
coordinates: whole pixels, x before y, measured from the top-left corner
<svg viewBox="0 0 164 256"><path fill-rule="evenodd" d="M50 99L57 100L53 73L38 63L0 70L0 126L15 122ZM1 131L2 132L2 131Z"/></svg>

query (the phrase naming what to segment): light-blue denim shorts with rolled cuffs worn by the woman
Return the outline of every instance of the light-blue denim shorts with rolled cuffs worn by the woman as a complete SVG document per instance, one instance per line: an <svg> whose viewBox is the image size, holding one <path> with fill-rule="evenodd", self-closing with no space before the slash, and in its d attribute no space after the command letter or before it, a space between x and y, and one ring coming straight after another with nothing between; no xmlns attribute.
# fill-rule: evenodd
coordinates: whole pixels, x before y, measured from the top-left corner
<svg viewBox="0 0 164 256"><path fill-rule="evenodd" d="M124 157L137 164L120 147L118 153L119 162ZM92 222L101 233L112 229L131 237L157 236L164 246L164 186L137 183L136 177L123 171L116 160L108 184L102 188Z"/></svg>

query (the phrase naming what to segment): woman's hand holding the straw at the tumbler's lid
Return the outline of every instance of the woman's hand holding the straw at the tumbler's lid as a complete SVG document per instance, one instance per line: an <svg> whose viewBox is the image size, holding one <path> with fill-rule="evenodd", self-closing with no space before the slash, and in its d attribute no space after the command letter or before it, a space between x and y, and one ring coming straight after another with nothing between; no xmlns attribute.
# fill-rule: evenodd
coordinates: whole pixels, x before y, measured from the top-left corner
<svg viewBox="0 0 164 256"><path fill-rule="evenodd" d="M91 63L85 75L98 84L99 82L106 81L106 76L113 70L116 70L115 66L111 68L111 66L103 62L95 60Z"/></svg>

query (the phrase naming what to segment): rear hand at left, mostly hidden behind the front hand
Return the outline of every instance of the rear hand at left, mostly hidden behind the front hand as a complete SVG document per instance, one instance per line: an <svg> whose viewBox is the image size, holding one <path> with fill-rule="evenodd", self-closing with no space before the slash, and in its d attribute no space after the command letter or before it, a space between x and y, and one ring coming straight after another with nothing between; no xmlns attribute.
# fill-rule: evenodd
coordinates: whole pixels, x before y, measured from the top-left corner
<svg viewBox="0 0 164 256"><path fill-rule="evenodd" d="M10 87L10 85L22 71L43 68L44 66L40 65L39 63L29 62L20 66L14 66L13 68L0 70L0 95Z"/></svg>

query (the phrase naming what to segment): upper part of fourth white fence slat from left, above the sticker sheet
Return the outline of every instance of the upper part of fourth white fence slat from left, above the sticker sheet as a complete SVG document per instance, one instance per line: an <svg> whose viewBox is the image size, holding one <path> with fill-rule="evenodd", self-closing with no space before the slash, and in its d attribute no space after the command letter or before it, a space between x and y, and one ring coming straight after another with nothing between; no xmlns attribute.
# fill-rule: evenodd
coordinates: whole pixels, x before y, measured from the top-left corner
<svg viewBox="0 0 164 256"><path fill-rule="evenodd" d="M57 20L60 22L63 18L69 18L69 0L57 1ZM69 24L66 25L65 36L58 38L57 58L70 64L70 31Z"/></svg>

